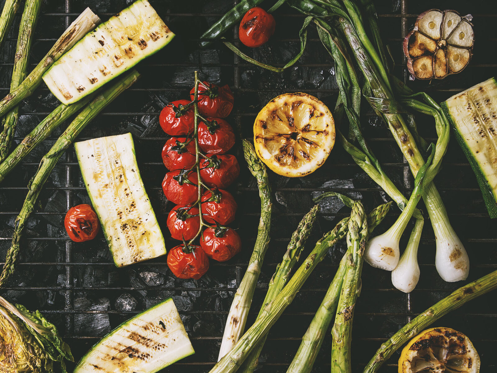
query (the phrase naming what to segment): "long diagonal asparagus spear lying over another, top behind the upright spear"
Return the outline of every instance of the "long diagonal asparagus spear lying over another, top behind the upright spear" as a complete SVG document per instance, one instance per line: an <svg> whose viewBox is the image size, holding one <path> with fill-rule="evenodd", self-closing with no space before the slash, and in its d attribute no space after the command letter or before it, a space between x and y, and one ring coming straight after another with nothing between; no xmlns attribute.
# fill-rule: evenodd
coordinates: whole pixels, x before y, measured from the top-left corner
<svg viewBox="0 0 497 373"><path fill-rule="evenodd" d="M377 208L375 211L386 214L388 209ZM379 217L381 220L384 217ZM264 307L261 317L257 318L247 332L239 339L235 346L221 359L210 373L234 373L257 348L269 329L274 325L283 311L291 304L304 282L309 278L312 271L321 262L328 250L340 239L344 238L348 231L348 220L346 217L322 239L320 239L306 260L288 281L285 287L276 295L274 300Z"/></svg>

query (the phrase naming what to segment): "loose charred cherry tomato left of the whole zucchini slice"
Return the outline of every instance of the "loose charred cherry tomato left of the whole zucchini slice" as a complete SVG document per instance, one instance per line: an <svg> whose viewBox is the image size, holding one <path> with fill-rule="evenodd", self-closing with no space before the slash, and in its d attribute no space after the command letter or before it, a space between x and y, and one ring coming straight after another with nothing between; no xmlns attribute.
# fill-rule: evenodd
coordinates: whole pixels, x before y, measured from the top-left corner
<svg viewBox="0 0 497 373"><path fill-rule="evenodd" d="M83 242L95 238L100 228L98 216L89 204L71 207L64 219L67 234L74 242Z"/></svg>

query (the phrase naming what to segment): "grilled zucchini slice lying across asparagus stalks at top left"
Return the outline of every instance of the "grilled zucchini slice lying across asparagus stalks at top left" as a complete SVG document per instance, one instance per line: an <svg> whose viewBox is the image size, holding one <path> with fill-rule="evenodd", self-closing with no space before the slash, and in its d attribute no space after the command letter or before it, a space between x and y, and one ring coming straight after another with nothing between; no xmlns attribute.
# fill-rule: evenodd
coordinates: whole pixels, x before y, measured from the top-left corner
<svg viewBox="0 0 497 373"><path fill-rule="evenodd" d="M87 33L43 75L64 104L76 102L165 47L174 37L147 0Z"/></svg>

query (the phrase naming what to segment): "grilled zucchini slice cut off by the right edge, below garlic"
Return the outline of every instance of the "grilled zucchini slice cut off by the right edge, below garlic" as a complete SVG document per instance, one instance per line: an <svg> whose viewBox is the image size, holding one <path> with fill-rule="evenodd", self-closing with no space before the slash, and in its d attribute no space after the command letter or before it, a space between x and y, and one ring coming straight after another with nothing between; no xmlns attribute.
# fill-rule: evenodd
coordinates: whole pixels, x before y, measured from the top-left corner
<svg viewBox="0 0 497 373"><path fill-rule="evenodd" d="M491 78L442 103L475 172L491 218L497 217L497 81Z"/></svg>

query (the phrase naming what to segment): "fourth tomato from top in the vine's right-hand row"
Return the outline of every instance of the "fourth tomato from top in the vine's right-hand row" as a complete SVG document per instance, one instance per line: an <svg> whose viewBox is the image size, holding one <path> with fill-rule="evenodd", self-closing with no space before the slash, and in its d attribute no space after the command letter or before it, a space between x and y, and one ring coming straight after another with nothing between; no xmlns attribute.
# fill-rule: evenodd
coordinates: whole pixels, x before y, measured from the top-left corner
<svg viewBox="0 0 497 373"><path fill-rule="evenodd" d="M217 221L222 225L230 224L235 220L237 207L237 202L229 191L212 189L202 194L202 215L208 223Z"/></svg>

